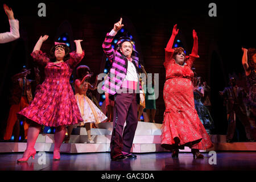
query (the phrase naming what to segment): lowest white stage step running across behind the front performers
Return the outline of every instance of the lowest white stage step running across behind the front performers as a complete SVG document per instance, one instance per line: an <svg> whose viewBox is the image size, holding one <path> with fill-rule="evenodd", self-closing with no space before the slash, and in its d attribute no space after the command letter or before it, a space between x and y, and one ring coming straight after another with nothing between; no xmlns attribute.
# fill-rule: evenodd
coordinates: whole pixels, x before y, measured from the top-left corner
<svg viewBox="0 0 256 182"><path fill-rule="evenodd" d="M1 152L24 152L27 143L23 142L1 142ZM54 143L36 143L36 151L53 152ZM190 152L188 147L180 152ZM213 148L208 150L200 150L200 152L209 151L256 151L256 142L236 142L236 143L214 143ZM63 143L60 152L76 154L86 152L110 152L109 143ZM131 152L147 153L147 152L168 152L160 146L159 143L134 143Z"/></svg>

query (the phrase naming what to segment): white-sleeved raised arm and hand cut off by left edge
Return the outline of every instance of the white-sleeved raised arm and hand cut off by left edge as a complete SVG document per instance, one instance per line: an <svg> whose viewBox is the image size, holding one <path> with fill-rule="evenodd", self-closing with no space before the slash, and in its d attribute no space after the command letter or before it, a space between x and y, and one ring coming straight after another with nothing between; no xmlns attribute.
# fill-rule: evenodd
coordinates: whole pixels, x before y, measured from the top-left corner
<svg viewBox="0 0 256 182"><path fill-rule="evenodd" d="M0 34L0 43L7 43L19 38L19 21L14 19L13 10L7 5L3 5L5 13L10 23L10 32Z"/></svg>

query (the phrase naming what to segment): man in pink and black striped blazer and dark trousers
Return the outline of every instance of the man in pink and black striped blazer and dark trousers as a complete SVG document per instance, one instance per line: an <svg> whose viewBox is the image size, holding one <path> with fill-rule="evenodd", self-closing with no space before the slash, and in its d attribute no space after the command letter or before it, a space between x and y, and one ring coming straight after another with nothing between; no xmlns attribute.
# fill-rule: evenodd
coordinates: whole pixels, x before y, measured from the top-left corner
<svg viewBox="0 0 256 182"><path fill-rule="evenodd" d="M110 156L112 160L136 158L130 150L133 145L135 130L138 125L137 103L138 86L138 60L133 59L133 42L125 40L119 45L119 50L112 48L114 36L123 27L122 18L114 24L102 44L102 48L112 62L110 72L104 81L102 90L115 97L113 131L110 142ZM138 88L138 89L137 89ZM123 126L126 121L126 127Z"/></svg>

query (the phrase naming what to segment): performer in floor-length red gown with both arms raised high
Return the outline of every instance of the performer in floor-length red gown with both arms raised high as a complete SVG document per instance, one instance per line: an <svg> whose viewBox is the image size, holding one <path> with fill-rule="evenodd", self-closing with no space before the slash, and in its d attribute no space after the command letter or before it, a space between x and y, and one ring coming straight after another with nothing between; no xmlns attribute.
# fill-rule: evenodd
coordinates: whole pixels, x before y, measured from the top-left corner
<svg viewBox="0 0 256 182"><path fill-rule="evenodd" d="M179 148L191 148L194 158L204 158L199 150L213 146L201 123L193 100L193 61L198 58L198 40L193 30L193 49L191 55L185 57L181 47L172 49L175 36L179 32L175 24L172 36L165 49L166 82L163 97L166 110L162 125L161 146L171 150L172 157L178 157Z"/></svg>

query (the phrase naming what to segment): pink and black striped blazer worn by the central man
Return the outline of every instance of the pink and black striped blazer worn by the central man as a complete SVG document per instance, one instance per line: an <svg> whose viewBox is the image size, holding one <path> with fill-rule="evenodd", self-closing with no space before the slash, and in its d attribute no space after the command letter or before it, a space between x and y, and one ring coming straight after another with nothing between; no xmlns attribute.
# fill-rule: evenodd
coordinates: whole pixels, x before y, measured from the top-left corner
<svg viewBox="0 0 256 182"><path fill-rule="evenodd" d="M102 90L105 92L114 95L117 93L117 90L120 89L123 79L126 77L128 60L122 55L122 53L115 51L112 48L112 41L114 36L110 36L109 33L106 35L106 38L102 44L102 48L108 59L112 62L112 67L110 72L104 81ZM133 57L133 64L138 71L139 61Z"/></svg>

